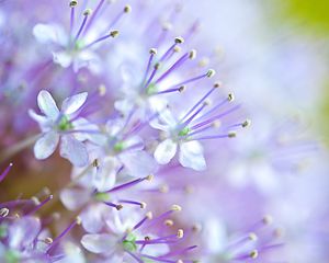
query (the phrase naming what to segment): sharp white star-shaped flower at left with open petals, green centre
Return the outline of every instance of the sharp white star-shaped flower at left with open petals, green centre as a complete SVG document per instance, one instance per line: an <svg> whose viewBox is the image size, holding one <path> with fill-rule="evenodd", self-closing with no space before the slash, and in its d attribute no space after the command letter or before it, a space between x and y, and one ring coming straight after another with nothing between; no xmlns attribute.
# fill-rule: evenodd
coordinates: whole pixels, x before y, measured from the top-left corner
<svg viewBox="0 0 329 263"><path fill-rule="evenodd" d="M37 104L44 115L30 110L30 116L34 118L43 132L42 137L34 145L35 158L43 160L48 158L57 148L60 140L60 156L68 159L75 165L81 167L88 163L88 152L82 141L78 140L71 132L79 129L86 119L76 118L88 96L87 92L67 98L59 111L48 91L42 90L37 95ZM73 118L76 118L73 121ZM82 126L81 126L82 127ZM90 125L89 125L90 127ZM86 126L82 127L86 129ZM77 135L79 136L79 135ZM83 137L83 136L82 136ZM82 139L88 138L84 137ZM80 134L81 139L81 134Z"/></svg>

